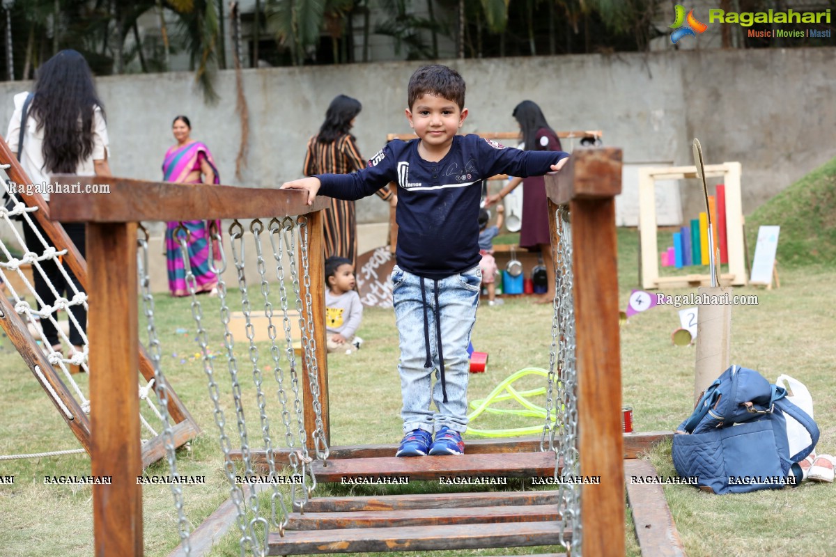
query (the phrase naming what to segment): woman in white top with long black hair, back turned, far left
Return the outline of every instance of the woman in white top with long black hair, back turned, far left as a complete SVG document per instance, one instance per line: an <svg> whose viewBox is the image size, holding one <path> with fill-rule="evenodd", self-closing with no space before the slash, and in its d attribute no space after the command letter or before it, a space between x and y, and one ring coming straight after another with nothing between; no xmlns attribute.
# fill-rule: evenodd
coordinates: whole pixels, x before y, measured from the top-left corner
<svg viewBox="0 0 836 557"><path fill-rule="evenodd" d="M18 144L18 135L24 105L27 107L27 117L21 145ZM96 94L93 74L80 53L62 50L38 68L33 93L21 93L14 97L14 114L8 124L6 137L9 149L15 154L21 152L23 170L33 185L43 192L43 199L47 202L49 175L110 175L104 108ZM84 224L61 224L81 256L84 256ZM42 237L48 239L37 222L35 225ZM42 244L35 231L28 225L24 225L23 229L29 249L40 249ZM34 273L39 306L40 302L44 306L54 306L56 294L72 299L74 290L84 292L69 267L65 270L75 289L69 285L54 261L41 261L40 266L45 276L39 272ZM68 311L72 316L69 320L69 342L75 352L80 352L85 343L87 310L82 303L68 306ZM61 352L59 334L52 320L42 319L41 327L47 342L56 352Z"/></svg>

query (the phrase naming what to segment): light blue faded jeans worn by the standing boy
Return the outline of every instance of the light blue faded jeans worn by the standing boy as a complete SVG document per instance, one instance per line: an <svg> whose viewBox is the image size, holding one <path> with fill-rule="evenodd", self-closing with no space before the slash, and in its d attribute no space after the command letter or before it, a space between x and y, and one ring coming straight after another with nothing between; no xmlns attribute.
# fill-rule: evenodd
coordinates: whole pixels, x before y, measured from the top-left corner
<svg viewBox="0 0 836 557"><path fill-rule="evenodd" d="M400 411L404 433L413 429L435 433L445 426L464 433L470 379L467 345L476 322L482 272L476 266L433 281L395 266L390 278L400 335L398 372L404 400ZM421 281L424 283L423 295ZM441 385L442 362L446 402ZM436 377L435 385L432 384L433 376ZM436 412L430 408L431 401L436 403Z"/></svg>

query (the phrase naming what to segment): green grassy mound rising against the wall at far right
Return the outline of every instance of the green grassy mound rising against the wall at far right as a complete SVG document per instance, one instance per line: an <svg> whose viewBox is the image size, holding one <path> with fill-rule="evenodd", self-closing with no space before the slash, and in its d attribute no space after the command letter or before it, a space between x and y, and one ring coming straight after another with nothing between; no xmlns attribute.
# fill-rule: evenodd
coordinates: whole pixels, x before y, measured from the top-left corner
<svg viewBox="0 0 836 557"><path fill-rule="evenodd" d="M747 218L750 251L761 225L781 226L776 256L781 266L836 266L836 158L782 190Z"/></svg>

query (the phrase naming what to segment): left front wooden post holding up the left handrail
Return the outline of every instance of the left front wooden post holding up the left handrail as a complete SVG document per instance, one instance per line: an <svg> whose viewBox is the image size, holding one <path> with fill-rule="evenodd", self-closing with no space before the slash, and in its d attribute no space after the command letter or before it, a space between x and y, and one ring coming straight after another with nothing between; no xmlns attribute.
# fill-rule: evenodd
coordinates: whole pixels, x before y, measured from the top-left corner
<svg viewBox="0 0 836 557"><path fill-rule="evenodd" d="M95 554L142 555L136 224L87 225Z"/></svg>

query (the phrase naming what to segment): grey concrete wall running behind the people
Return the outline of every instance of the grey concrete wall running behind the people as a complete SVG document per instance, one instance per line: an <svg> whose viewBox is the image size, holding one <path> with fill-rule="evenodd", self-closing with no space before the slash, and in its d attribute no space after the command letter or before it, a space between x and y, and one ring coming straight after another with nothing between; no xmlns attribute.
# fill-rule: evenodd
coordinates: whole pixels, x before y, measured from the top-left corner
<svg viewBox="0 0 836 557"><path fill-rule="evenodd" d="M836 48L691 50L447 63L467 81L465 132L517 129L512 109L532 99L555 129L603 129L604 143L623 148L626 163L691 165L691 139L698 137L707 163L742 163L749 213L836 156L834 54ZM244 70L250 136L240 179L234 72L220 74L222 101L215 106L203 104L191 73L99 78L111 167L115 175L158 180L173 143L171 119L186 114L193 137L212 149L224 184L278 186L301 176L306 141L340 93L364 104L354 132L371 157L387 133L410 131L405 88L419 65ZM13 94L28 85L0 84L0 121L8 122ZM701 190L685 182L680 189L683 214L694 215ZM361 200L358 216L361 223L385 221L388 205L376 196Z"/></svg>

